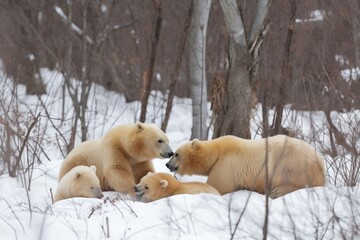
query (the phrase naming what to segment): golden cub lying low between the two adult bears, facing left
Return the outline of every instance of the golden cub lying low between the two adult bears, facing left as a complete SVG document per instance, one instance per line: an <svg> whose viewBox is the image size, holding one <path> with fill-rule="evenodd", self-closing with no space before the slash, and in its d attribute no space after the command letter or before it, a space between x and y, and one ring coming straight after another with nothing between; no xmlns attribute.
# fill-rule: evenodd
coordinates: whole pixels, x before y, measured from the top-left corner
<svg viewBox="0 0 360 240"><path fill-rule="evenodd" d="M168 173L149 172L134 189L137 200L142 202L152 202L177 194L212 193L220 195L209 184L202 182L180 182Z"/></svg>

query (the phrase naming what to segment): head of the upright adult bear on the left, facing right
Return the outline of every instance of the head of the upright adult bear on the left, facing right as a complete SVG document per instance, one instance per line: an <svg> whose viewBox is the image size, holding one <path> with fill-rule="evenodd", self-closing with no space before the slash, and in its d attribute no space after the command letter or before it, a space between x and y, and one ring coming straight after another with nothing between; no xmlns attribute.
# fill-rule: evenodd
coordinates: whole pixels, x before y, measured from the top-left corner
<svg viewBox="0 0 360 240"><path fill-rule="evenodd" d="M135 159L151 160L154 158L170 158L174 155L169 146L166 134L155 124L135 123L135 133L132 138L132 151Z"/></svg>

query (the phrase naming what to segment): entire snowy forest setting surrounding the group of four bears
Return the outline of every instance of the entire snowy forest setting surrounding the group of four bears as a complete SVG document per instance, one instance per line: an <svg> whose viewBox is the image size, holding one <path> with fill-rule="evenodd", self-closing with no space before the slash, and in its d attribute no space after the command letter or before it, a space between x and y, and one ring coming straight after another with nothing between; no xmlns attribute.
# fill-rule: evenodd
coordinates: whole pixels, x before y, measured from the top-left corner
<svg viewBox="0 0 360 240"><path fill-rule="evenodd" d="M358 0L0 1L0 233L357 239L359 12ZM294 136L324 155L327 184L277 200L106 192L53 205L68 152L135 121L157 124L173 149Z"/></svg>

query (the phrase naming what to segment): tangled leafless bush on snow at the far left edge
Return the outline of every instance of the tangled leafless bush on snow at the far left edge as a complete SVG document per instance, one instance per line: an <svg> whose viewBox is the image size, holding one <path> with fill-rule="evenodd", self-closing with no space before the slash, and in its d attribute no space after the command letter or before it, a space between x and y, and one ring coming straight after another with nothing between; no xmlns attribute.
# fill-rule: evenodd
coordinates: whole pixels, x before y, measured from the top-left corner
<svg viewBox="0 0 360 240"><path fill-rule="evenodd" d="M24 187L30 190L34 164L41 162L43 152L44 134L38 124L40 113L34 115L31 110L28 113L20 110L23 106L17 88L8 78L4 77L1 85L0 133L3 141L0 143L0 173L6 172L10 177L22 175Z"/></svg>

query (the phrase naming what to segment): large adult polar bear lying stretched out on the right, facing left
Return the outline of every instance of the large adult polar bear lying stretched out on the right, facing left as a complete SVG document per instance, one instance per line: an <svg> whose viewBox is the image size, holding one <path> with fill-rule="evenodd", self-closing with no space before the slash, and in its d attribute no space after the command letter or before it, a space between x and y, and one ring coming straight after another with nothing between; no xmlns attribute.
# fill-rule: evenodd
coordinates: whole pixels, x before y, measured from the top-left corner
<svg viewBox="0 0 360 240"><path fill-rule="evenodd" d="M181 145L166 166L181 175L208 176L207 183L220 194L239 189L264 194L266 158L272 198L305 187L325 185L324 159L309 144L284 135L267 140L234 136L210 141L195 139Z"/></svg>

